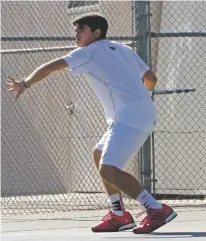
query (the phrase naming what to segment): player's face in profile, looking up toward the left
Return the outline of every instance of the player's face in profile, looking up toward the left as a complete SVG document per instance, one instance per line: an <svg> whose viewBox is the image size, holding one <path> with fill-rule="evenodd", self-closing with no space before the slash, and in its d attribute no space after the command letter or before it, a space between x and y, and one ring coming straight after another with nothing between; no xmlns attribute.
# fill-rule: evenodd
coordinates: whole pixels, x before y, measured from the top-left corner
<svg viewBox="0 0 206 241"><path fill-rule="evenodd" d="M83 27L76 26L75 38L78 47L85 47L96 40L97 34L96 31L92 33L91 28L87 25Z"/></svg>

